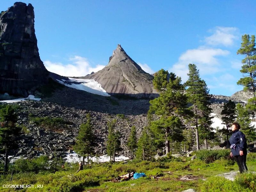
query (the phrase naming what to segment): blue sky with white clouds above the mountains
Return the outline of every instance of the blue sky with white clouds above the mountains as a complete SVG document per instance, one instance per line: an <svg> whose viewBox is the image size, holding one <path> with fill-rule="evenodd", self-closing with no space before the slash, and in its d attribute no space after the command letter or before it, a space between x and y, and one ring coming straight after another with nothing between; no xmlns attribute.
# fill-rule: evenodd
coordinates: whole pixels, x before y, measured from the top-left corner
<svg viewBox="0 0 256 192"><path fill-rule="evenodd" d="M5 0L5 11L15 1ZM212 94L242 90L236 82L241 36L256 35L251 1L23 0L35 11L41 60L52 72L84 76L108 64L117 44L149 73L161 68L187 79L197 65Z"/></svg>

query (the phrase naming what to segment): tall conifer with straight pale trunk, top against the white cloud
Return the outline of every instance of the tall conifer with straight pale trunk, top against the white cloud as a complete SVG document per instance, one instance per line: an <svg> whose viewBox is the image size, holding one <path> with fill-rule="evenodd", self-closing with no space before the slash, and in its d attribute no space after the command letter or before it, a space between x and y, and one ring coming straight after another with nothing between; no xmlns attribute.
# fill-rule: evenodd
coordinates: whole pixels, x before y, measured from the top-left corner
<svg viewBox="0 0 256 192"><path fill-rule="evenodd" d="M207 85L204 80L199 77L199 70L196 68L195 64L188 65L188 81L185 85L188 87L186 90L186 95L188 97L188 103L191 104L189 109L193 112L193 116L188 118L188 122L196 128L196 149L199 150L199 133L200 128L201 137L205 139L205 144L207 146L207 139L212 134L211 124L212 117L210 108L210 95ZM199 127L199 125L201 126Z"/></svg>

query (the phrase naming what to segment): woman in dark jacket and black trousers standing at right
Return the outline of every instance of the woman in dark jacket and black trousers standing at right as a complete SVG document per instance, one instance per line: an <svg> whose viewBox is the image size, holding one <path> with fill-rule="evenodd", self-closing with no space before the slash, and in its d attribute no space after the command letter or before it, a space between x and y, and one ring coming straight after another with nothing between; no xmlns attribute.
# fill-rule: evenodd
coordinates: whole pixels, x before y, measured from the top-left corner
<svg viewBox="0 0 256 192"><path fill-rule="evenodd" d="M231 129L233 134L231 135L229 142L231 144L230 156L234 156L240 173L243 173L248 170L246 166L247 143L244 133L239 131L240 128L241 127L239 123L235 122L232 124Z"/></svg>

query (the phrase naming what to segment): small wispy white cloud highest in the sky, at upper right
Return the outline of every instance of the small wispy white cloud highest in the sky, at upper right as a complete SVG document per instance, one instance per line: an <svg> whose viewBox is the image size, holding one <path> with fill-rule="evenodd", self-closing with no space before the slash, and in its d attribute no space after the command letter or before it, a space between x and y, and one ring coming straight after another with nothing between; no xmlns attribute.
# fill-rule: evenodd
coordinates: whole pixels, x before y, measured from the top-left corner
<svg viewBox="0 0 256 192"><path fill-rule="evenodd" d="M206 44L209 45L233 45L234 40L238 38L236 35L238 29L235 27L216 27L210 32L213 32L211 36L205 37Z"/></svg>

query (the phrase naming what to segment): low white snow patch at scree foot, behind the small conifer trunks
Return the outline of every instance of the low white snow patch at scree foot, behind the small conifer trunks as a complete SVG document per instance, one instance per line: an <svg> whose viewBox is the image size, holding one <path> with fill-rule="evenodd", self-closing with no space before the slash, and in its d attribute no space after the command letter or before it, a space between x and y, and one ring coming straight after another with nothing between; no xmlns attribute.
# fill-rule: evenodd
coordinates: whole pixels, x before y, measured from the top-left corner
<svg viewBox="0 0 256 192"><path fill-rule="evenodd" d="M104 162L109 162L110 157L108 155L103 155L99 157L97 156L89 157L89 159L95 163L104 163ZM115 161L124 161L127 159L129 158L125 156L116 156ZM73 153L67 153L67 156L64 157L63 160L68 163L78 163L83 160L83 157L78 157L78 154L76 152L73 152ZM87 161L87 158L85 158L85 161Z"/></svg>

